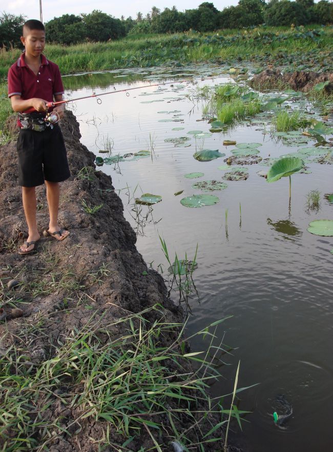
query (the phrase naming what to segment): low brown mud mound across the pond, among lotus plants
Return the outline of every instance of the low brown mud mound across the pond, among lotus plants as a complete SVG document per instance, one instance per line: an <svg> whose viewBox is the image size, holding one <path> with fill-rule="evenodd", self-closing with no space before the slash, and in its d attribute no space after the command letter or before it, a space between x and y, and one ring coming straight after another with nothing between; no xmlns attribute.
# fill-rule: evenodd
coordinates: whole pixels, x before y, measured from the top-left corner
<svg viewBox="0 0 333 452"><path fill-rule="evenodd" d="M319 73L319 72L304 72L295 71L282 74L280 69L267 68L260 74L255 75L249 84L254 88L263 87L270 89L278 87L279 85L288 85L295 91L310 91L317 83L329 81L325 86L325 92L330 93L333 90L333 73Z"/></svg>

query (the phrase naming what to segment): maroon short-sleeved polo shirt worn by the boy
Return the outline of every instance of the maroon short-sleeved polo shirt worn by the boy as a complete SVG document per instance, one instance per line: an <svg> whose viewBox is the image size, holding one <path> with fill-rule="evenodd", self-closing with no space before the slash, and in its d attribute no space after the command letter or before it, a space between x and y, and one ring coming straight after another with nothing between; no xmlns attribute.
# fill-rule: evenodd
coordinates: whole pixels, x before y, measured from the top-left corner
<svg viewBox="0 0 333 452"><path fill-rule="evenodd" d="M8 97L15 94L23 100L38 97L53 102L53 96L64 94L58 66L42 54L39 71L35 75L25 62L25 53L22 53L8 71ZM49 108L49 111L52 110L53 108Z"/></svg>

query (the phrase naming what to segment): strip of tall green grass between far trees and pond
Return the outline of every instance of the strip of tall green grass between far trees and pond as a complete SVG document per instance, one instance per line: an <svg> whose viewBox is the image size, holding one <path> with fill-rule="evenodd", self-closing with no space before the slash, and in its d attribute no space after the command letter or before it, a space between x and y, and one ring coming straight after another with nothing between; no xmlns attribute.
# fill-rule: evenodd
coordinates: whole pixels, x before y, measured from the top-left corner
<svg viewBox="0 0 333 452"><path fill-rule="evenodd" d="M110 43L86 43L64 47L49 44L45 54L56 62L62 74L101 71L127 67L152 67L162 64L183 65L190 62L218 60L232 63L277 62L297 67L306 64L328 68L332 51L332 27L302 29L255 28L222 30L214 34L181 33L134 35ZM0 77L17 60L19 49L0 51ZM332 69L332 67L330 67Z"/></svg>

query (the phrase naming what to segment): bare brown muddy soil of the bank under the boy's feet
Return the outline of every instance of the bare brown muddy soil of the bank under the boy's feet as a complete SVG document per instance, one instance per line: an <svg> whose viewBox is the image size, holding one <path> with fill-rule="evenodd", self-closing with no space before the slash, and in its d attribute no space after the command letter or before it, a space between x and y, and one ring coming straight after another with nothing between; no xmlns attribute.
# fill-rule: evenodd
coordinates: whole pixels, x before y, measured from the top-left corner
<svg viewBox="0 0 333 452"><path fill-rule="evenodd" d="M14 118L8 122L8 127L15 129ZM0 323L0 351L15 344L35 364L53 357L58 340L64 341L73 329L81 330L87 324L92 312L85 307L87 300L96 312L94 322L97 324L107 325L129 312L136 313L156 303L162 306L165 322L183 320L182 310L167 297L161 276L148 269L137 251L136 235L123 217L123 206L111 178L96 170L95 156L80 143L79 125L71 112L66 112L61 129L72 175L61 184L59 223L70 235L63 242L43 237L42 231L48 226L48 208L45 187L37 187L37 223L41 239L35 254L20 256L17 253L27 228L21 190L17 186L16 141L0 148L0 307L8 312L15 307L23 309L22 317L8 317ZM78 174L84 167L93 170L89 178L82 179ZM89 214L82 200L91 206L102 204L102 207L94 215ZM53 278L56 277L54 284L48 281L51 266ZM101 268L107 268L108 272L98 273ZM8 282L13 279L19 285L9 289ZM47 290L36 294L41 282ZM149 321L157 316L155 311L147 314ZM36 328L41 321L43 328ZM109 331L110 335L121 332L120 326ZM175 337L173 333L165 335L164 345L171 344ZM175 402L171 400L170 404L173 406ZM205 411L207 406L203 404L201 409ZM59 418L61 427L66 429L73 427L78 412L62 405L55 397L44 415ZM182 425L177 426L179 431L189 428L191 422L184 418ZM212 416L211 422L215 425L220 418ZM81 427L78 433L73 432L73 428L69 428L68 433L60 430L48 444L50 452L97 452L96 441L102 438L106 422L87 418ZM110 438L115 444L124 441L112 426ZM163 434L163 450L172 450L170 441L168 434ZM1 442L0 439L0 445ZM195 431L193 442L197 442ZM130 449L139 450L141 446L144 450L154 446L147 431L141 430ZM217 447L216 443L204 447L205 450L222 450L222 445ZM103 450L114 449L108 446ZM230 450L238 449L231 447Z"/></svg>

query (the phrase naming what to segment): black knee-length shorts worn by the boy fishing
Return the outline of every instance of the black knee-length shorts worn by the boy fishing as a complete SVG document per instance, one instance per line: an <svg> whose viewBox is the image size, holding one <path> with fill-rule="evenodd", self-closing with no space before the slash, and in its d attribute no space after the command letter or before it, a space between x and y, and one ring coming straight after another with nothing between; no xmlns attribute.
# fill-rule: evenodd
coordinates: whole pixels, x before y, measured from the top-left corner
<svg viewBox="0 0 333 452"><path fill-rule="evenodd" d="M43 132L21 129L17 139L18 184L36 187L63 182L71 175L63 133L58 124Z"/></svg>

